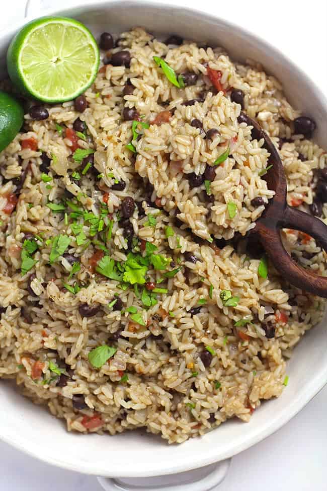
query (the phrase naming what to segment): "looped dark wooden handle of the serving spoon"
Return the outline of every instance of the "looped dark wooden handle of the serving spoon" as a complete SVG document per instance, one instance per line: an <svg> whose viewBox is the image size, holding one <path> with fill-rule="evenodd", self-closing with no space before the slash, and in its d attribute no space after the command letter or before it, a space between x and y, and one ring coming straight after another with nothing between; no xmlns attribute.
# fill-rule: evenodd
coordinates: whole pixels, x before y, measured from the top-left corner
<svg viewBox="0 0 327 491"><path fill-rule="evenodd" d="M280 237L280 229L300 230L313 237L327 251L327 226L318 218L290 206L286 206L283 216L274 226L271 225L268 221L259 221L256 232L275 268L295 287L327 298L327 277L319 276L294 262Z"/></svg>

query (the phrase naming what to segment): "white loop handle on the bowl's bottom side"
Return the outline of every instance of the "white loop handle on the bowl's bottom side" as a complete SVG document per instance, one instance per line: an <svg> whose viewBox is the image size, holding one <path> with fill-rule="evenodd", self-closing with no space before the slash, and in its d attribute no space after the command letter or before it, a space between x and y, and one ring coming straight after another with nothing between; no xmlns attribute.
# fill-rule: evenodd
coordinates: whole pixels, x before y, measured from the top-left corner
<svg viewBox="0 0 327 491"><path fill-rule="evenodd" d="M213 469L210 469L204 477L196 481L190 480L189 472L175 474L178 480L185 480L180 484L160 484L163 476L156 477L157 482L148 486L138 485L137 479L135 479L134 484L126 484L120 479L112 477L98 477L98 481L105 491L210 491L226 477L230 462L231 459L226 459L214 464Z"/></svg>

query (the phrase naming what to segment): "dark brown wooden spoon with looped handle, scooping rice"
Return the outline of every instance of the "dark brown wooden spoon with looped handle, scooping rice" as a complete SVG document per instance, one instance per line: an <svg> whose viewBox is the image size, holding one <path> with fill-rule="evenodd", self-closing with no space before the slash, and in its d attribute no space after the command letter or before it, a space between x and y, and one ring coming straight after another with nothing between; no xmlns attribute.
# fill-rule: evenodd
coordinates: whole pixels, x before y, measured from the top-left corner
<svg viewBox="0 0 327 491"><path fill-rule="evenodd" d="M304 269L294 262L285 250L280 237L280 229L300 230L313 237L327 251L327 226L318 218L288 206L283 164L271 139L247 114L241 113L238 122L253 126L253 138L257 140L264 138L264 147L270 153L268 163L272 164L265 178L268 188L275 191L275 195L269 200L264 213L257 220L254 232L258 234L261 244L283 278L301 290L327 298L327 277L319 276L311 269Z"/></svg>

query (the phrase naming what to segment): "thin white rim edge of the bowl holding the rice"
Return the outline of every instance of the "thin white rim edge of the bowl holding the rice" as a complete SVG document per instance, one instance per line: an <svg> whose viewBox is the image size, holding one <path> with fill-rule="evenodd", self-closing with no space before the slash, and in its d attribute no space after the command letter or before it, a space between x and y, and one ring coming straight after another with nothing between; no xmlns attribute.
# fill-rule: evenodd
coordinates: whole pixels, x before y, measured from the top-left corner
<svg viewBox="0 0 327 491"><path fill-rule="evenodd" d="M168 0L165 4L161 3L161 1L156 2L153 0L96 0L96 1L85 0L84 3L82 4L81 0L73 0L71 3L69 3L68 7L63 7L59 9L49 8L44 11L42 10L42 17L51 16L51 15L68 16L68 14L74 9L79 9L79 13L82 13L82 12L88 12L90 10L94 10L96 8L101 9L104 7L111 7L111 6L125 6L126 8L130 6L135 8L135 5L137 5L139 8L153 7L163 11L173 10L179 16L183 16L188 13L193 15L196 14L199 16L201 20L204 21L219 20L222 24L226 25L228 28L236 29L242 32L243 34L248 36L249 39L258 42L263 49L271 53L274 53L275 56L278 57L283 64L287 63L290 66L291 70L297 73L304 80L305 84L310 87L312 92L315 92L317 94L317 97L319 97L321 101L321 110L323 111L323 113L327 115L327 98L325 94L310 79L310 77L306 75L306 73L303 71L301 67L299 67L295 62L289 59L288 56L286 56L281 50L273 46L270 42L266 41L261 36L253 34L248 29L243 28L241 25L237 23L226 20L224 17L219 17L218 15L215 14L202 13L198 9L189 8L184 5L176 5L174 3L174 0ZM19 29L21 29L25 24L27 24L28 22L30 22L31 20L37 17L38 16L31 15L19 22L14 23L8 29L4 30L1 33L0 39L9 36L13 37ZM269 66L267 68L269 71ZM305 391L298 393L297 396L294 397L292 403L288 404L287 410L285 408L282 412L279 413L278 417L272 418L272 420L269 423L263 426L260 429L260 431L257 431L255 435L253 435L251 438L249 437L248 439L243 440L242 443L239 444L236 449L228 450L225 453L223 453L222 456L218 456L218 457L216 456L216 454L218 453L217 449L211 449L211 451L209 451L210 450L209 449L205 455L197 454L195 452L196 463L193 461L189 461L189 462L184 461L184 463L171 462L169 466L166 465L165 467L162 467L162 463L157 462L155 465L151 466L151 470L146 470L143 468L143 470L134 469L132 472L130 472L128 471L128 469L125 469L123 475L124 477L150 477L150 476L174 474L179 472L186 472L188 470L192 470L195 468L204 467L206 465L213 464L217 461L233 457L234 455L237 455L243 450L252 447L253 445L259 443L260 441L266 439L267 437L278 431L282 426L288 423L288 421L293 416L295 416L326 384L327 384L327 360L323 370L312 376L310 381L305 384ZM108 475L108 476L110 475L111 477L122 476L122 471L120 469L111 469L110 473L108 473L108 471L103 468L101 463L99 465L91 461L89 461L87 464L83 462L83 467L82 467L82 464L78 466L76 462L70 463L70 462L66 462L65 460L61 460L58 457L40 455L40 452L38 452L37 449L33 448L33 446L30 446L29 442L24 441L22 438L17 438L17 436L16 438L12 438L4 434L1 425L0 425L0 439L5 443L15 447L16 449L21 450L24 453L29 454L30 456L35 457L38 460L41 460L48 464L55 465L67 470L72 470L84 474ZM181 446L181 448L183 448L183 446Z"/></svg>

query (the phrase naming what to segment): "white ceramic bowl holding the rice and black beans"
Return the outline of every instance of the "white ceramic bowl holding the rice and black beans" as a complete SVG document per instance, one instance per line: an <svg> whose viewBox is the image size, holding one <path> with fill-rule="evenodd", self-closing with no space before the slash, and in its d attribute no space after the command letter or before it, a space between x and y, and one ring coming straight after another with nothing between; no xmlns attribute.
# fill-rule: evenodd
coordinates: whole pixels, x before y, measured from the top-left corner
<svg viewBox="0 0 327 491"><path fill-rule="evenodd" d="M315 140L321 146L325 143L327 101L323 94L281 52L242 27L172 5L135 0L104 0L96 4L85 0L83 4L75 3L67 10L53 9L46 14L74 17L95 34L119 33L137 25L156 34L178 33L188 39L224 46L236 59L250 57L262 62L283 83L290 102L315 119ZM0 74L5 73L8 44L24 24L25 21L0 34ZM69 434L58 419L2 381L0 438L48 463L89 474L140 477L199 468L249 448L287 423L327 382L326 353L327 331L323 322L296 347L287 368L289 385L280 398L265 402L248 424L229 420L204 437L179 446L169 446L158 437L138 432L114 437ZM198 485L194 489L200 488ZM174 489L178 487L175 485ZM190 486L188 489L191 491Z"/></svg>

